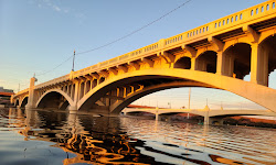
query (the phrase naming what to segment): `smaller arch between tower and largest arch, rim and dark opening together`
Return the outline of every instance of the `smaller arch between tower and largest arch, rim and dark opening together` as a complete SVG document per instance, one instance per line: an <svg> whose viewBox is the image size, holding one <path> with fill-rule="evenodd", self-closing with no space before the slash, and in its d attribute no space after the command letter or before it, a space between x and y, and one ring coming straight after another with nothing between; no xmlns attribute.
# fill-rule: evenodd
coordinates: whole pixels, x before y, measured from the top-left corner
<svg viewBox="0 0 276 165"><path fill-rule="evenodd" d="M63 99L61 101L61 99ZM71 97L60 90L60 89L51 89L44 92L36 102L36 108L57 108L65 110L67 106L73 106L74 101Z"/></svg>

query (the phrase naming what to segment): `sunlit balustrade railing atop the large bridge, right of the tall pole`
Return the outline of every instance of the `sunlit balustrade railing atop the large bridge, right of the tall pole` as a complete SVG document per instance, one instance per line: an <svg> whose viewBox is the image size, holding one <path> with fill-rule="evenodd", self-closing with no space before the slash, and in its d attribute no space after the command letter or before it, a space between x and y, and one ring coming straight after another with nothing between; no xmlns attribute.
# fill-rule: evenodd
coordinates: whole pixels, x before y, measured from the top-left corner
<svg viewBox="0 0 276 165"><path fill-rule="evenodd" d="M211 33L220 32L224 29L236 26L244 22L248 22L251 20L261 18L264 14L274 13L274 12L275 12L275 0L267 1L257 6L251 7L248 9L242 10L240 12L230 14L227 16L221 18L213 22L206 23L199 28L192 29L184 33L168 37L164 40L163 44L159 41L157 43L147 45L145 47L138 48L129 53L126 53L124 55L117 56L109 61L105 61L96 65L89 66L87 68L77 70L74 75L76 77L82 76L92 70L97 72L99 69L124 64L126 61L130 61L132 58L144 57L145 55L149 55L149 54L156 54L164 48L173 47L176 45L180 45L189 41L199 40L201 37L205 37L206 35Z"/></svg>

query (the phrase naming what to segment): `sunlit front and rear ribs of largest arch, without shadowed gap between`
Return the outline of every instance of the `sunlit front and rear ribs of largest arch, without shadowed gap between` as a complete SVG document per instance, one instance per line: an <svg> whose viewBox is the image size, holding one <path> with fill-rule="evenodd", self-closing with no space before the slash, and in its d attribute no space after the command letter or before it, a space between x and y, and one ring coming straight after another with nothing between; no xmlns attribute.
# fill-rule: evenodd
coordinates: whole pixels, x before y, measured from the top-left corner
<svg viewBox="0 0 276 165"><path fill-rule="evenodd" d="M221 76L217 74L210 74L199 70L189 70L189 69L169 69L169 68L158 68L158 69L146 69L146 70L136 70L134 73L126 73L123 75L115 76L113 78L106 79L104 82L92 89L86 94L78 102L77 109L85 109L87 105L95 103L100 97L103 97L109 90L116 88L118 85L136 82L147 78L167 78L174 79L174 85L166 85L166 82L160 86L153 86L152 89L142 89L137 92L131 94L132 96L127 96L119 103L114 103L110 106L110 112L119 112L131 101L158 91L161 89L169 89L176 86L189 86L189 87L209 87L231 91L244 98L247 98L267 109L276 111L275 100L276 98L275 89L267 88L262 85L253 84L250 81L244 81L233 77ZM181 81L181 82L178 82ZM182 84L182 85L180 85ZM185 84L185 85L184 85Z"/></svg>

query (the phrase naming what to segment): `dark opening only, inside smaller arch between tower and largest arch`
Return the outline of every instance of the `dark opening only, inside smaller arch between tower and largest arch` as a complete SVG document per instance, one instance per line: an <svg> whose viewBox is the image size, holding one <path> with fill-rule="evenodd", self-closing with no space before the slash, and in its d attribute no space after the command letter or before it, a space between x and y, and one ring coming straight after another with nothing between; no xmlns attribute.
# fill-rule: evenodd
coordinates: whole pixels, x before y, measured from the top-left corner
<svg viewBox="0 0 276 165"><path fill-rule="evenodd" d="M60 92L52 91L46 94L39 102L40 109L60 109L66 110L70 102Z"/></svg>

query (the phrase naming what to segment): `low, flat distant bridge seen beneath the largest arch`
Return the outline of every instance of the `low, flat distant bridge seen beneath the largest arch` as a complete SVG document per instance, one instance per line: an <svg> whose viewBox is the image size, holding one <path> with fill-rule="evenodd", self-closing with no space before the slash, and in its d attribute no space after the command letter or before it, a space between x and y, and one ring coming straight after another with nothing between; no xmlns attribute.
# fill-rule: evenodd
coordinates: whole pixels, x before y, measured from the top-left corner
<svg viewBox="0 0 276 165"><path fill-rule="evenodd" d="M150 108L125 108L121 111L124 114L131 112L148 112L156 116L156 120L159 120L159 116L162 114L177 114L177 113L191 113L201 116L204 118L204 124L219 123L223 124L223 118L232 116L268 116L276 117L275 112L269 110L210 110L208 106L204 109L150 109Z"/></svg>

